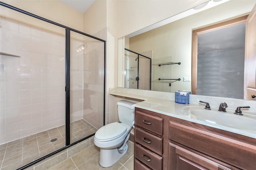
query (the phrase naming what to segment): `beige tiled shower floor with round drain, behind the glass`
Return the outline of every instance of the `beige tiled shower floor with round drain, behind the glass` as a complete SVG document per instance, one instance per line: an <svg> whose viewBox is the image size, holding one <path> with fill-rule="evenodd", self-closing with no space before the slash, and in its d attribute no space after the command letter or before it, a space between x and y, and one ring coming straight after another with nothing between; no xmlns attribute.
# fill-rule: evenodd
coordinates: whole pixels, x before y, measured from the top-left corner
<svg viewBox="0 0 256 170"><path fill-rule="evenodd" d="M97 129L84 119L70 123L70 142L73 143ZM57 141L50 142L51 139ZM65 126L56 127L16 141L0 145L0 170L14 170L65 146Z"/></svg>

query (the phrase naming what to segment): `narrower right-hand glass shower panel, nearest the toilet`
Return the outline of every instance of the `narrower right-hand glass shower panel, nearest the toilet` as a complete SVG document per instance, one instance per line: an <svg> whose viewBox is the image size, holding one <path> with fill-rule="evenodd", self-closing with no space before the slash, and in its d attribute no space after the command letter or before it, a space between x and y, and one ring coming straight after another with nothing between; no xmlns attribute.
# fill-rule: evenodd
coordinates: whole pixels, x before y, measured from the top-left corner
<svg viewBox="0 0 256 170"><path fill-rule="evenodd" d="M104 122L104 42L70 32L70 143Z"/></svg>

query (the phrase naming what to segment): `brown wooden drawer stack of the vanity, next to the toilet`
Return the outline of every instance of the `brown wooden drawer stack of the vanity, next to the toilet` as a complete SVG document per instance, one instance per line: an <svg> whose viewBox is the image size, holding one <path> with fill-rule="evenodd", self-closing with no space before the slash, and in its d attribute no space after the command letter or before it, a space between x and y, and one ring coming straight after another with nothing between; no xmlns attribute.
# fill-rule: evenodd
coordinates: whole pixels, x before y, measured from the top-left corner
<svg viewBox="0 0 256 170"><path fill-rule="evenodd" d="M168 119L165 118L166 115L135 108L134 170L138 164L153 170L167 167L168 145L164 145L163 139L168 140Z"/></svg>

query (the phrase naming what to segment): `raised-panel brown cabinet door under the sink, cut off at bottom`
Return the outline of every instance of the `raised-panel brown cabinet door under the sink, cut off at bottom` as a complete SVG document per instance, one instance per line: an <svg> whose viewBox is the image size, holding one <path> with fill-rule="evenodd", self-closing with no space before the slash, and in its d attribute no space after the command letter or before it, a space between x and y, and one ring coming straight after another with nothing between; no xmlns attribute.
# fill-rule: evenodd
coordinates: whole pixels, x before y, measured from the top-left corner
<svg viewBox="0 0 256 170"><path fill-rule="evenodd" d="M168 170L238 170L200 152L169 143Z"/></svg>

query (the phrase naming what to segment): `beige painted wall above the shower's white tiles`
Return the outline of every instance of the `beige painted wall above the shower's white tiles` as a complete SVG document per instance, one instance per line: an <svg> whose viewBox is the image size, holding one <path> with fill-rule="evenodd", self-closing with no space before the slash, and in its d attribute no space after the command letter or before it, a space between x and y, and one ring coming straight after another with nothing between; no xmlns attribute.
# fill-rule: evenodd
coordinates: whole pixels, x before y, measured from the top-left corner
<svg viewBox="0 0 256 170"><path fill-rule="evenodd" d="M2 2L20 8L26 12L38 15L48 20L60 23L62 25L77 29L78 31L84 30L83 14L74 10L70 6L58 0L1 0ZM0 6L0 14L7 15L9 18L21 20L19 12L6 12L6 8ZM24 15L25 16L25 15ZM33 19L31 19L33 20ZM35 20L35 19L34 19ZM26 19L26 22L30 22ZM32 23L28 23L33 25ZM37 24L37 26L40 26Z"/></svg>

